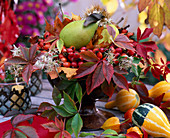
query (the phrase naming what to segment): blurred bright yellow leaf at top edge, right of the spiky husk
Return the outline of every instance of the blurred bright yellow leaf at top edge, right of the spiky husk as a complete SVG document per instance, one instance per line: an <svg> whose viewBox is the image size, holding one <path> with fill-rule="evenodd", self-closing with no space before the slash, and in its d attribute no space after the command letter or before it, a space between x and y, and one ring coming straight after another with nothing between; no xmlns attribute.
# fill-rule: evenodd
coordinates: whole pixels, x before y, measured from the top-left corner
<svg viewBox="0 0 170 138"><path fill-rule="evenodd" d="M115 13L118 8L118 0L101 0L104 6L106 6L106 10L109 14Z"/></svg>

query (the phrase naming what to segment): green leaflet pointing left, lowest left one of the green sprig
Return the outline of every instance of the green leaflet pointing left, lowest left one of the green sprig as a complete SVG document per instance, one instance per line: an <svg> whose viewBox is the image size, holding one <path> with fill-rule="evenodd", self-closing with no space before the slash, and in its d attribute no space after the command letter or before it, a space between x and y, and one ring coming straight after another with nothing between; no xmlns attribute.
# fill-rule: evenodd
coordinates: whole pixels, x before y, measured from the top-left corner
<svg viewBox="0 0 170 138"><path fill-rule="evenodd" d="M54 108L54 110L62 117L70 117L74 115L73 113L70 113L62 106L52 106L52 108Z"/></svg>

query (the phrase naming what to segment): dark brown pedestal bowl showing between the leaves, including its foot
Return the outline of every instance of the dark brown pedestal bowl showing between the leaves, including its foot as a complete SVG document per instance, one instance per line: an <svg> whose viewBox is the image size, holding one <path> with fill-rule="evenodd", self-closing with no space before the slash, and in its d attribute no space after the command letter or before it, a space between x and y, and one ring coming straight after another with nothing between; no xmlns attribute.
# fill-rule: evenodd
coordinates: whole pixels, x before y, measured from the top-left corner
<svg viewBox="0 0 170 138"><path fill-rule="evenodd" d="M47 77L50 84L54 86L58 86L61 81L60 78L51 79L49 76ZM85 92L86 85L85 80L79 81L82 91ZM102 111L95 106L96 99L100 99L104 94L101 91L101 88L96 88L90 95L85 94L82 98L82 104L80 109L80 115L83 120L83 129L84 130L95 130L100 129L103 123L110 117L114 115L107 111ZM79 108L79 105L77 105Z"/></svg>

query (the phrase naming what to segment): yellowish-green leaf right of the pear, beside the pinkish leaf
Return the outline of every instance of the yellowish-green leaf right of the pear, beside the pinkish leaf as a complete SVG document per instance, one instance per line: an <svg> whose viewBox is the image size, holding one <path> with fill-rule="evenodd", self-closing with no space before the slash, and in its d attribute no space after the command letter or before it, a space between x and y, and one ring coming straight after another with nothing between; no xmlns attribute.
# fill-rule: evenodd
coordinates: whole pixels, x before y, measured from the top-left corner
<svg viewBox="0 0 170 138"><path fill-rule="evenodd" d="M101 44L101 43L111 43L112 42L112 36L109 34L109 32L107 31L107 29L103 29L101 35L103 36L102 39L99 39L98 41L98 44Z"/></svg>

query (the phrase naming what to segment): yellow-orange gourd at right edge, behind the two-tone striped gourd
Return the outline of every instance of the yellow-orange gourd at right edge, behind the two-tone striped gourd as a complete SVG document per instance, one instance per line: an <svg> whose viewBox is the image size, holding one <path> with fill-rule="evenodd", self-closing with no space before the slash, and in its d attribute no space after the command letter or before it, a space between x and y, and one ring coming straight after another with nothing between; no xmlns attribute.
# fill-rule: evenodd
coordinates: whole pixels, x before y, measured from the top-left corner
<svg viewBox="0 0 170 138"><path fill-rule="evenodd" d="M156 98L161 94L165 93L163 101L170 99L170 83L166 81L160 81L149 91L149 97Z"/></svg>

